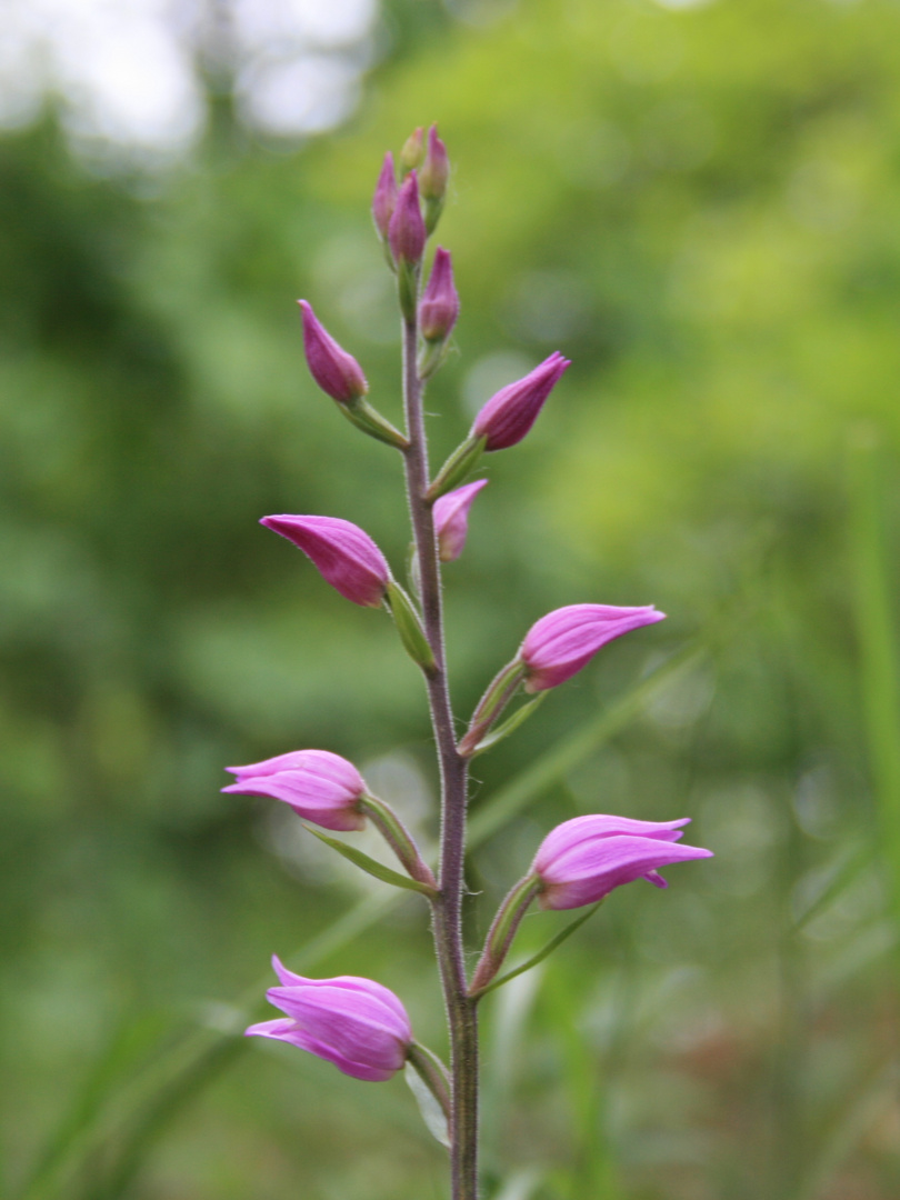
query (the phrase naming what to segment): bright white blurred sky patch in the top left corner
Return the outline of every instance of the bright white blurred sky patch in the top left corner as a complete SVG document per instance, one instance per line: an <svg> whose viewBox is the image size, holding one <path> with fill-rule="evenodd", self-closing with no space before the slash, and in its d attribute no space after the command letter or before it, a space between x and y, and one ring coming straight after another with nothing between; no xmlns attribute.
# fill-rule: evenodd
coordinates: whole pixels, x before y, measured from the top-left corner
<svg viewBox="0 0 900 1200"><path fill-rule="evenodd" d="M181 152L205 120L198 52L224 37L247 124L318 133L356 104L376 17L377 0L0 0L0 125L54 94L77 140Z"/></svg>

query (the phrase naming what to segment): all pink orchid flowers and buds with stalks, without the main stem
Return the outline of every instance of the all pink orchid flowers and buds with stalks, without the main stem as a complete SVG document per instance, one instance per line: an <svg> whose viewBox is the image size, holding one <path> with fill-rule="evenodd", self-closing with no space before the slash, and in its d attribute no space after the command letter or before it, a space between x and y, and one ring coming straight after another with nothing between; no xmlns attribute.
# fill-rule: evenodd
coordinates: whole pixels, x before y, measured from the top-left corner
<svg viewBox="0 0 900 1200"><path fill-rule="evenodd" d="M427 284L421 293L419 290L422 256L444 203L448 179L449 161L437 128L430 130L427 146L422 130L416 130L401 154L400 180L392 155L386 155L372 202L376 229L397 276L401 311L412 344L415 347L416 328L424 343L419 343L416 350L420 355L415 365L416 386L443 361L460 313L451 256L443 247L437 247ZM412 434L394 430L365 400L368 384L359 362L324 329L306 300L299 304L306 361L318 386L341 406L344 416L409 455L408 464L415 462ZM468 536L472 506L487 484L486 479L463 480L482 451L508 449L527 436L569 366L569 360L554 352L523 378L496 392L478 413L468 438L437 479L430 485L426 480L427 490L420 492L422 485L413 486L414 476L408 476L414 509L416 503L420 506L415 527L418 553L424 553L427 545L431 522L432 553L443 563L460 557ZM290 514L263 517L262 524L298 546L347 600L364 607L388 608L410 655L426 677L434 680L442 670L439 648L433 644L433 637L426 636L421 614L364 529L338 517ZM433 558L428 559L428 565L433 583ZM415 571L410 575L415 576ZM415 587L416 582L413 589ZM653 605L602 604L568 605L541 617L526 634L512 661L488 686L467 734L455 748L456 754L462 758L480 752L487 734L496 738L509 731L497 733L496 722L520 686L527 692L556 688L581 671L607 642L664 617L665 613ZM533 703L526 707L532 708ZM452 754L452 734L448 736ZM359 830L371 817L396 851L409 878L418 881L431 901L440 899L431 869L400 818L389 805L368 793L361 774L346 758L326 750L295 750L227 769L235 781L224 787L224 792L278 800L324 829ZM544 839L529 872L494 918L468 996L475 997L490 986L518 922L535 898L544 908L577 908L637 878L666 887L659 875L660 868L709 857L710 851L680 841L688 821L685 817L654 822L594 814L557 826ZM320 836L337 850L342 848L340 841ZM392 880L389 878L379 864L359 851L346 850L346 853L355 856L356 865L362 865L364 870L371 868L371 874L379 878L400 880L402 886L410 886L409 880L396 872ZM354 976L308 979L288 971L277 958L272 961L280 985L269 990L268 998L286 1015L252 1025L247 1034L298 1046L356 1079L388 1080L410 1060L415 1069L420 1069L416 1055L422 1048L413 1039L403 1004L389 989Z"/></svg>

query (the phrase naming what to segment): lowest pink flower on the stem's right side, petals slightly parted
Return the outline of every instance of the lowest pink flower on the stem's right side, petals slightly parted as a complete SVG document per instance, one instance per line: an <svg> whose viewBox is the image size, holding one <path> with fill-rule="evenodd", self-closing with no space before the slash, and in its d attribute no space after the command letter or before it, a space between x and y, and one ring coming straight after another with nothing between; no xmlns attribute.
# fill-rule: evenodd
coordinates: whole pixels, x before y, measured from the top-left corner
<svg viewBox="0 0 900 1200"><path fill-rule="evenodd" d="M547 834L535 854L532 872L540 880L542 908L580 908L613 888L646 878L665 888L658 868L691 858L712 858L710 850L676 845L680 821L635 821L629 817L587 816L564 821Z"/></svg>

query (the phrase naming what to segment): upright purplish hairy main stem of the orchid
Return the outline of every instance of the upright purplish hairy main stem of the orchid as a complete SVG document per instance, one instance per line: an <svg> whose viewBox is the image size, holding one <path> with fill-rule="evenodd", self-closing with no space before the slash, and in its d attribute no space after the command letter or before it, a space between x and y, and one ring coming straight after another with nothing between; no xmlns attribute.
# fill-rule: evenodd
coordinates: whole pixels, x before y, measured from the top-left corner
<svg viewBox="0 0 900 1200"><path fill-rule="evenodd" d="M434 655L426 673L431 722L440 766L439 894L433 901L434 944L450 1026L452 1111L450 1157L454 1200L478 1200L478 1016L468 996L462 940L463 865L468 764L456 749L444 655L440 566L428 491L421 380L416 370L418 318L403 320L403 401L409 446L404 450L407 497L419 557L422 619Z"/></svg>

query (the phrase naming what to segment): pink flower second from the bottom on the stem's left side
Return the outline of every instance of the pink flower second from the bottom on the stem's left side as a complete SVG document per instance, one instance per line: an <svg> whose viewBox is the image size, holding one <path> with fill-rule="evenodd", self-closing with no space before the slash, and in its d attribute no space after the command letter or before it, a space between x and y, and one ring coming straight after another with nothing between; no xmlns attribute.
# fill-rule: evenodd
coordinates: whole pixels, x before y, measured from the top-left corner
<svg viewBox="0 0 900 1200"><path fill-rule="evenodd" d="M236 776L223 792L266 796L289 804L298 816L323 829L362 829L359 802L366 785L353 766L329 750L294 750L248 767L226 767Z"/></svg>

